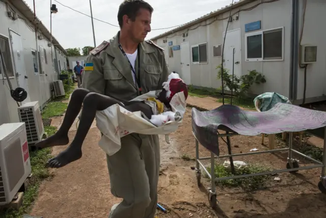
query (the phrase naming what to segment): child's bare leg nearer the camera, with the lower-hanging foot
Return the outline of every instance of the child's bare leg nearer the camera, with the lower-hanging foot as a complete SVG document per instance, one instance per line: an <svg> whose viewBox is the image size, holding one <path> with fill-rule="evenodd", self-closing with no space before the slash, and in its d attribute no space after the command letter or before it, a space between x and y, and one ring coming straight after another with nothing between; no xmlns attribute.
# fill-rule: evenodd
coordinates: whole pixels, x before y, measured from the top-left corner
<svg viewBox="0 0 326 218"><path fill-rule="evenodd" d="M50 159L48 166L59 168L81 158L82 145L95 119L96 111L104 110L114 104L122 105L119 101L105 95L94 92L87 94L84 99L80 123L73 141L65 151L61 152L57 157Z"/></svg>

